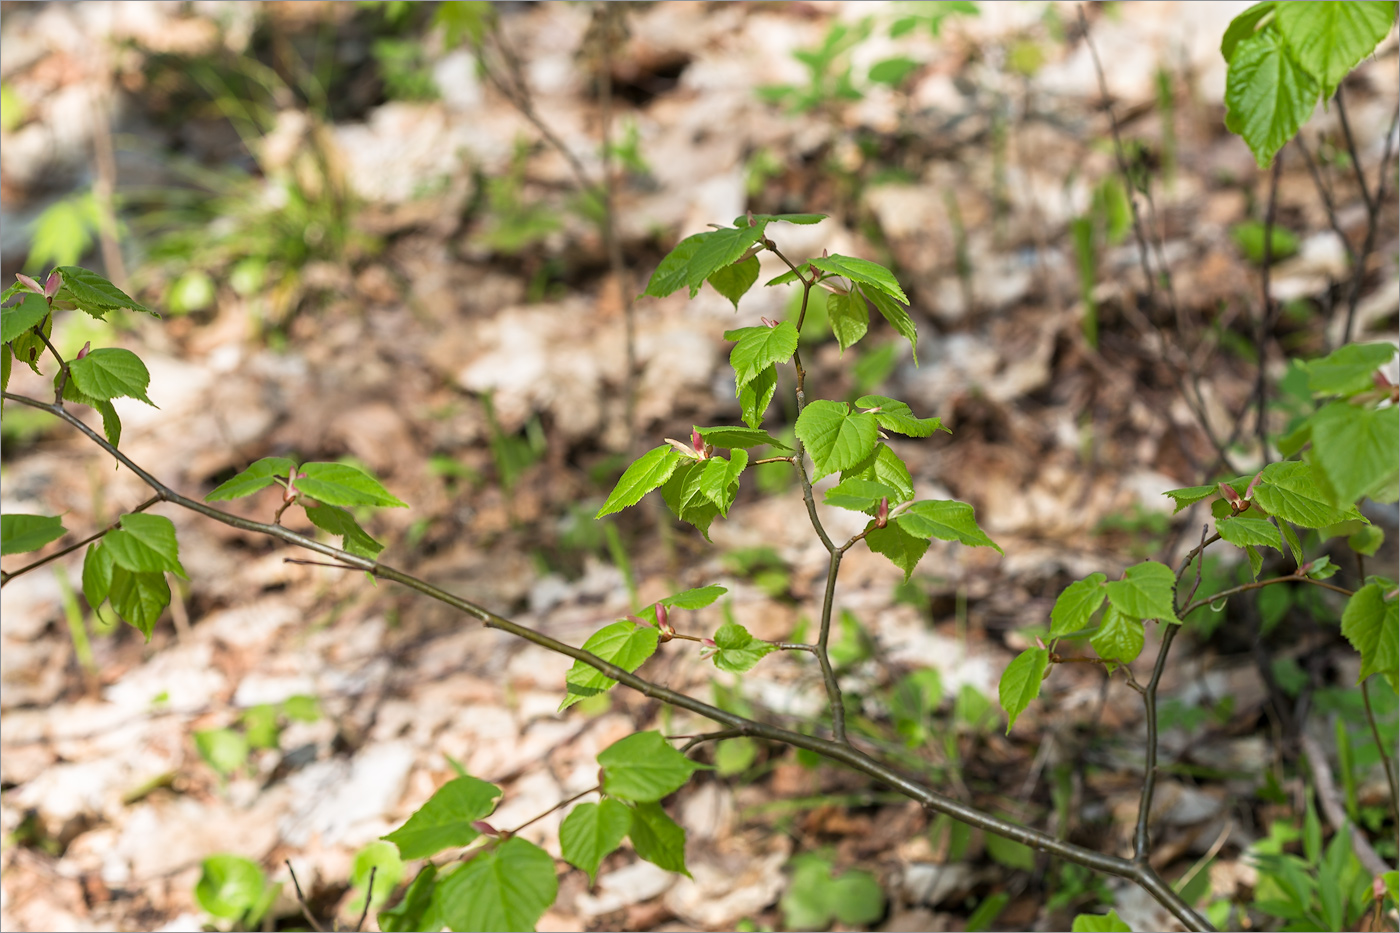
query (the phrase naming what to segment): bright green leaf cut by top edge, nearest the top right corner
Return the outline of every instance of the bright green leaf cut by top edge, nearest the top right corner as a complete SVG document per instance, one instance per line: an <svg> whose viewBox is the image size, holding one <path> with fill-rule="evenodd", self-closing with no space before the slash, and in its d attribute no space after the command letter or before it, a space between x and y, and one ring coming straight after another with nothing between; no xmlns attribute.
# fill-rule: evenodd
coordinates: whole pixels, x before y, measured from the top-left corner
<svg viewBox="0 0 1400 933"><path fill-rule="evenodd" d="M1330 94L1390 32L1394 3L1281 3L1274 22L1288 50Z"/></svg>

